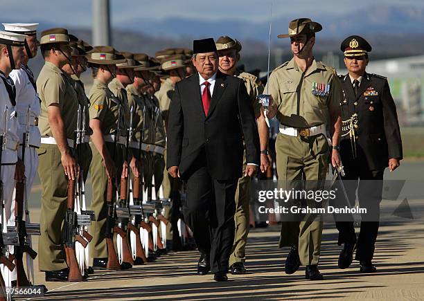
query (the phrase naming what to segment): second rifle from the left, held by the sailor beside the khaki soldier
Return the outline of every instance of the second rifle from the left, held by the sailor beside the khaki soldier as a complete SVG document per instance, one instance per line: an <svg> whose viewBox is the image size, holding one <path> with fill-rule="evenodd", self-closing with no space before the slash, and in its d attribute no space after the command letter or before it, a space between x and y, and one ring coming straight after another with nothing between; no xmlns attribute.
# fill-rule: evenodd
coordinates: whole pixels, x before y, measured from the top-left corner
<svg viewBox="0 0 424 301"><path fill-rule="evenodd" d="M28 112L26 116L26 130L24 131L23 139L22 139L22 161L23 162L25 162L25 149L26 149L26 146L28 145L29 114L30 114L30 106L28 106ZM24 262L23 262L24 253L27 254L27 260L28 260L28 257L32 260L35 259L35 257L37 257L37 252L35 252L35 250L33 250L33 248L31 248L30 245L26 243L26 238L28 237L28 233L26 232L26 223L22 219L25 192L26 192L25 180L22 181L21 183L16 183L15 226L18 233L18 241L19 241L19 246L15 247L17 287L24 287L24 286L28 287L31 285L28 280L28 277L26 276L25 269L24 269ZM37 226L39 229L39 225Z"/></svg>

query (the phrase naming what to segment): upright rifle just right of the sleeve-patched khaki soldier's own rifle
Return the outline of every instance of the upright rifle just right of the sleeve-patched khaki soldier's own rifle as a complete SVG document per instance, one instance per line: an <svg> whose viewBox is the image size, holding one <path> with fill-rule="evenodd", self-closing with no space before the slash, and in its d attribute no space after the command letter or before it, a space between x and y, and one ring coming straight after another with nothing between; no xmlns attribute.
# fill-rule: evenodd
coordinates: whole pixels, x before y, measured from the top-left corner
<svg viewBox="0 0 424 301"><path fill-rule="evenodd" d="M120 202L119 207L116 206L116 216L118 217L118 226L114 226L114 232L118 235L116 241L116 247L118 248L118 256L120 262L127 262L131 265L134 265L134 259L132 258L132 253L130 250L130 245L127 240L127 233L123 226L124 219L130 218L130 208L127 202L128 195L128 179L130 178L131 168L130 160L128 160L128 149L132 140L132 113L134 107L131 107L130 110L130 127L127 128L126 140L125 140L125 154L124 160L127 161L128 176L121 178L121 193L120 193Z"/></svg>

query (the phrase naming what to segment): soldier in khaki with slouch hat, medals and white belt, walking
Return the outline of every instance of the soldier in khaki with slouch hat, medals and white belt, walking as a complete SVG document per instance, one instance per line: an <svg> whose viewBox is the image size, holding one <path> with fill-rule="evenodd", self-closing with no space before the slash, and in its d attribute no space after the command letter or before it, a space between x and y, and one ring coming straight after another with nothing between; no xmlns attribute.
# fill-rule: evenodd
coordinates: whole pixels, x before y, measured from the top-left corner
<svg viewBox="0 0 424 301"><path fill-rule="evenodd" d="M317 62L312 55L315 33L321 29L310 19L290 22L289 33L279 37L290 37L293 58L272 71L265 87L272 96L268 117L276 116L281 124L276 138L279 181L306 180L306 185L313 186L307 188L315 189L324 184L328 163L340 165L340 82L332 67ZM328 145L328 132L333 149ZM307 204L317 207L315 200ZM283 221L279 246L291 246L285 273L294 273L301 263L306 265L306 279L321 280L317 264L322 221L314 219L307 215L300 222Z"/></svg>

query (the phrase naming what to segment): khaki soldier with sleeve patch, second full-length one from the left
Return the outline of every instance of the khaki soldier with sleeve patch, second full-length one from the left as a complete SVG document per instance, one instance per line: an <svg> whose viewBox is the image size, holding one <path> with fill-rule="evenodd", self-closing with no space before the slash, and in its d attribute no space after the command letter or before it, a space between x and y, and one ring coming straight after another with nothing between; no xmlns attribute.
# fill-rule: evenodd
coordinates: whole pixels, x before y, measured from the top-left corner
<svg viewBox="0 0 424 301"><path fill-rule="evenodd" d="M116 73L115 64L125 62L125 58L109 46L98 46L89 53L87 58L94 77L93 86L89 92L89 116L90 127L93 130L91 136L91 151L93 159L90 165L91 184L93 185L93 199L91 210L96 214L96 221L91 223L90 253L93 257L94 268L107 266L107 247L105 242L106 226L106 190L107 180L121 174L123 166L123 144L125 143L125 124L121 102L107 84L112 81ZM119 113L121 111L121 113ZM118 120L118 118L120 118ZM121 135L114 135L116 127L120 123ZM131 265L130 265L131 266ZM130 268L128 264L122 264L121 268Z"/></svg>

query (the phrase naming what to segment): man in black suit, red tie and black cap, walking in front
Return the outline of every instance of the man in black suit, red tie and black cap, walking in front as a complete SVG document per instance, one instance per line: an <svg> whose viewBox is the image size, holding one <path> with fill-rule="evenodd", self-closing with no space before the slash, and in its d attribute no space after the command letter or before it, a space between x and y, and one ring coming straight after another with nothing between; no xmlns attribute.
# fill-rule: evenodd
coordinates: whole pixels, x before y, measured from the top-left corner
<svg viewBox="0 0 424 301"><path fill-rule="evenodd" d="M237 180L260 161L258 129L245 84L218 71L213 39L193 42L197 73L175 85L168 119L167 169L187 185L186 223L201 255L197 273L209 269L226 281L234 239Z"/></svg>

